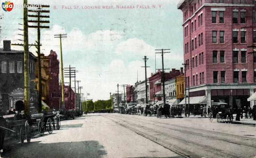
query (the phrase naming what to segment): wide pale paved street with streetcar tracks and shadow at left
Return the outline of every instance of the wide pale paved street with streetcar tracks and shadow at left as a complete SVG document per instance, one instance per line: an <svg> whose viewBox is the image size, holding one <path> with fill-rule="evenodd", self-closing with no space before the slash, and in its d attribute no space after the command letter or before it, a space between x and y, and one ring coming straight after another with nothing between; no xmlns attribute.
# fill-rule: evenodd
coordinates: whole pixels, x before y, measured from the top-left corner
<svg viewBox="0 0 256 158"><path fill-rule="evenodd" d="M101 113L62 121L4 157L254 157L255 140L250 125Z"/></svg>

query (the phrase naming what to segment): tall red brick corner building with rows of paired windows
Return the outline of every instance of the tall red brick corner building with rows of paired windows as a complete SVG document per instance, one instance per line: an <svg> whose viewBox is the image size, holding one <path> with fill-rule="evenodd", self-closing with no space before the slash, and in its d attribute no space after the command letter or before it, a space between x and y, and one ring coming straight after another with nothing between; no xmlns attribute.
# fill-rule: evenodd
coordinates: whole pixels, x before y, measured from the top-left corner
<svg viewBox="0 0 256 158"><path fill-rule="evenodd" d="M253 0L181 0L184 63L189 97L205 95L207 105L254 105L256 7ZM255 30L252 28L255 27Z"/></svg>

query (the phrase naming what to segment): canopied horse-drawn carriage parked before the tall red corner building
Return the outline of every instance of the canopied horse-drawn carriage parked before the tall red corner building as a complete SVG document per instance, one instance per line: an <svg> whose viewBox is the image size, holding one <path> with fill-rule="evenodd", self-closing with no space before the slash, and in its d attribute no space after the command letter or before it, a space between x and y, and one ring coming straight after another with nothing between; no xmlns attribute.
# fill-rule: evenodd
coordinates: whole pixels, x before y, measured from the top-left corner
<svg viewBox="0 0 256 158"><path fill-rule="evenodd" d="M217 122L232 122L232 109L227 103L213 102L212 107L208 107L208 118L212 122L213 118L217 119Z"/></svg>

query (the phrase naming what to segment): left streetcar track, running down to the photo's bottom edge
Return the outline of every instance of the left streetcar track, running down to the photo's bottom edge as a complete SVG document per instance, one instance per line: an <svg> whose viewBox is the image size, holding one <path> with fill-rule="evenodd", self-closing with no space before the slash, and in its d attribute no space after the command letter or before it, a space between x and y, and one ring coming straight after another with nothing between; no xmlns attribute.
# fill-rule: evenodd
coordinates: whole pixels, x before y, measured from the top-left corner
<svg viewBox="0 0 256 158"><path fill-rule="evenodd" d="M101 116L102 116L102 115L101 115ZM103 116L103 117L108 118L107 116ZM112 117L112 118L113 118L113 117ZM110 118L108 118L108 119L110 119ZM112 120L112 119L110 119L110 120ZM114 120L112 120L112 121L114 121ZM116 121L114 121L114 122L116 122ZM126 121L124 121L124 122L126 122ZM121 126L123 126L123 127L125 127L125 128L128 128L128 129L134 131L135 133L137 133L137 134L139 134L139 135L141 135L141 136L143 136L143 137L145 137L145 138L148 138L149 140L151 140L151 141L153 141L153 142L155 142L155 143L157 143L157 144L159 144L159 145L161 145L161 146L164 146L165 148L168 148L169 150L171 150L171 151L173 151L173 152L175 152L175 153L181 154L182 156L185 156L185 157L190 157L190 156L188 156L188 155L186 155L186 154L182 154L181 152L179 152L179 151L177 151L177 150L171 149L171 148L169 148L168 146L165 146L165 145L163 145L163 144L161 144L161 143L159 143L159 142L156 142L155 140L153 140L153 139L147 137L145 134L142 134L142 133L136 131L135 129L133 129L133 128L131 128L131 127L127 127L126 125L123 125L123 124L121 124L121 123L119 123L119 122L116 122L116 123L117 123L117 124L120 124ZM127 123L129 123L129 122L127 122ZM178 138L178 137L175 137L175 136L166 135L166 134L163 133L163 132L156 131L156 130L154 130L154 129L152 129L152 128L149 128L149 127L139 126L139 125L136 125L136 126L139 127L139 128L143 128L144 130L150 129L151 131L155 131L155 132L157 132L157 133L161 133L161 134L162 134L163 136L165 136L165 137L174 138L174 139L179 140L179 141L182 141L182 142L184 142L184 143L191 143L191 144L195 144L195 145L197 145L197 146L201 146L201 147L206 148L206 149L208 149L208 150L210 150L210 151L213 151L213 153L220 153L220 155L227 155L228 157L235 157L235 158L238 158L238 157L235 156L235 155L223 153L223 151L219 151L219 149L214 149L214 148L212 148L212 147L204 146L204 145L201 145L201 144L198 144L198 143L195 143L195 142L192 142L192 141L188 141L188 140L185 140L185 139L182 139L182 138ZM168 143L168 142L167 142L167 143ZM174 145L174 146L175 146L175 145ZM180 147L178 147L178 148L180 148ZM182 149L180 149L180 150L182 150ZM183 150L184 150L184 149L183 149ZM212 152L211 152L211 153L212 153Z"/></svg>

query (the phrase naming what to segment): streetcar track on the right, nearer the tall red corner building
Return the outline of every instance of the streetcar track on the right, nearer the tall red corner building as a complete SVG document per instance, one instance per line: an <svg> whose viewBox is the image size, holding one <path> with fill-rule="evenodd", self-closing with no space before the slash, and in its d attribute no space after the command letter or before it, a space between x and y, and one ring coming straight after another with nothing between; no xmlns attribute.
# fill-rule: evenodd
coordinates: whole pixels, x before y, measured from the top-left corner
<svg viewBox="0 0 256 158"><path fill-rule="evenodd" d="M125 117L125 116L120 116L122 118L130 118L130 117ZM134 119L134 118L131 118L132 120L135 120L135 121L138 121L137 119ZM151 120L145 120L145 119L141 119L141 120L144 120L144 121L151 121ZM176 125L173 125L173 124L170 124L170 123L164 123L164 122L156 122L156 121L151 121L151 122L155 122L155 123L161 123L161 124L168 124L168 125L172 125L172 126L176 126ZM144 122L144 123L148 123L148 122ZM230 141L228 139L225 139L225 138L218 138L218 137L214 137L214 136L209 136L209 135L204 135L202 133L197 133L197 132L192 132L192 131L189 131L189 130L182 130L182 129L172 129L172 128L169 128L169 127L165 127L165 126L161 126L161 125L157 125L157 124L153 124L153 123L148 123L148 124L151 124L151 125L155 125L155 126L158 126L158 127L162 127L162 128L166 128L166 129L170 129L170 130L176 130L176 131L180 131L182 133L190 133L190 134L193 134L193 135L197 135L197 136L201 136L201 137L205 137L205 138L212 138L212 139L217 139L217 140L221 140L221 141L226 141L228 143L233 143L233 144L237 144L237 145L243 145L243 146L248 146L248 147L252 147L253 149L255 149L255 145L252 146L252 145L247 145L245 143L239 143L239 141ZM179 126L179 125L177 125ZM183 127L183 126L179 126L179 127L182 127L182 128L187 128L187 127ZM195 130L199 130L199 129L196 129L196 128L193 128ZM201 129L200 129L201 130ZM205 130L205 131L208 131L208 132L211 132L212 134L220 134L220 132L215 132L215 131L209 131L209 130ZM204 133L204 132L203 132ZM237 136L237 135L232 135L232 134L226 134L226 133L221 133L225 136L234 136L234 137L241 137L241 138L245 138L244 140L252 140L252 141L255 141L254 138L249 138L249 137L244 137L244 136Z"/></svg>

